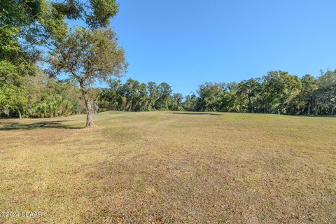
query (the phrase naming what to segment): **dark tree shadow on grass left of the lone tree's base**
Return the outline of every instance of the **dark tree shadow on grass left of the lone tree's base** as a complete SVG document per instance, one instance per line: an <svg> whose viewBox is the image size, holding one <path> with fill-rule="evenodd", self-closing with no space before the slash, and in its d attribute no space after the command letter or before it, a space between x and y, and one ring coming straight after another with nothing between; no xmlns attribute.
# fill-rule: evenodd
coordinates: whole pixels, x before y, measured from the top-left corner
<svg viewBox="0 0 336 224"><path fill-rule="evenodd" d="M59 128L59 129L81 129L83 127L67 127L63 123L67 120L43 121L38 123L17 123L17 122L0 122L1 130L33 130L38 128Z"/></svg>

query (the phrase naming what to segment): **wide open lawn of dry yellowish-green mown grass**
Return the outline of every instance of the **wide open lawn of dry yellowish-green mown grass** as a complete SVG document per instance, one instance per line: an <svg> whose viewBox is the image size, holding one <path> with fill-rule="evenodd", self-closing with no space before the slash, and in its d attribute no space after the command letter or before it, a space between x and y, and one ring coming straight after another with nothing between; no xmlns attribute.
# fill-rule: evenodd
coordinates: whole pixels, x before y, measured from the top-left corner
<svg viewBox="0 0 336 224"><path fill-rule="evenodd" d="M0 120L0 223L336 223L336 118Z"/></svg>

